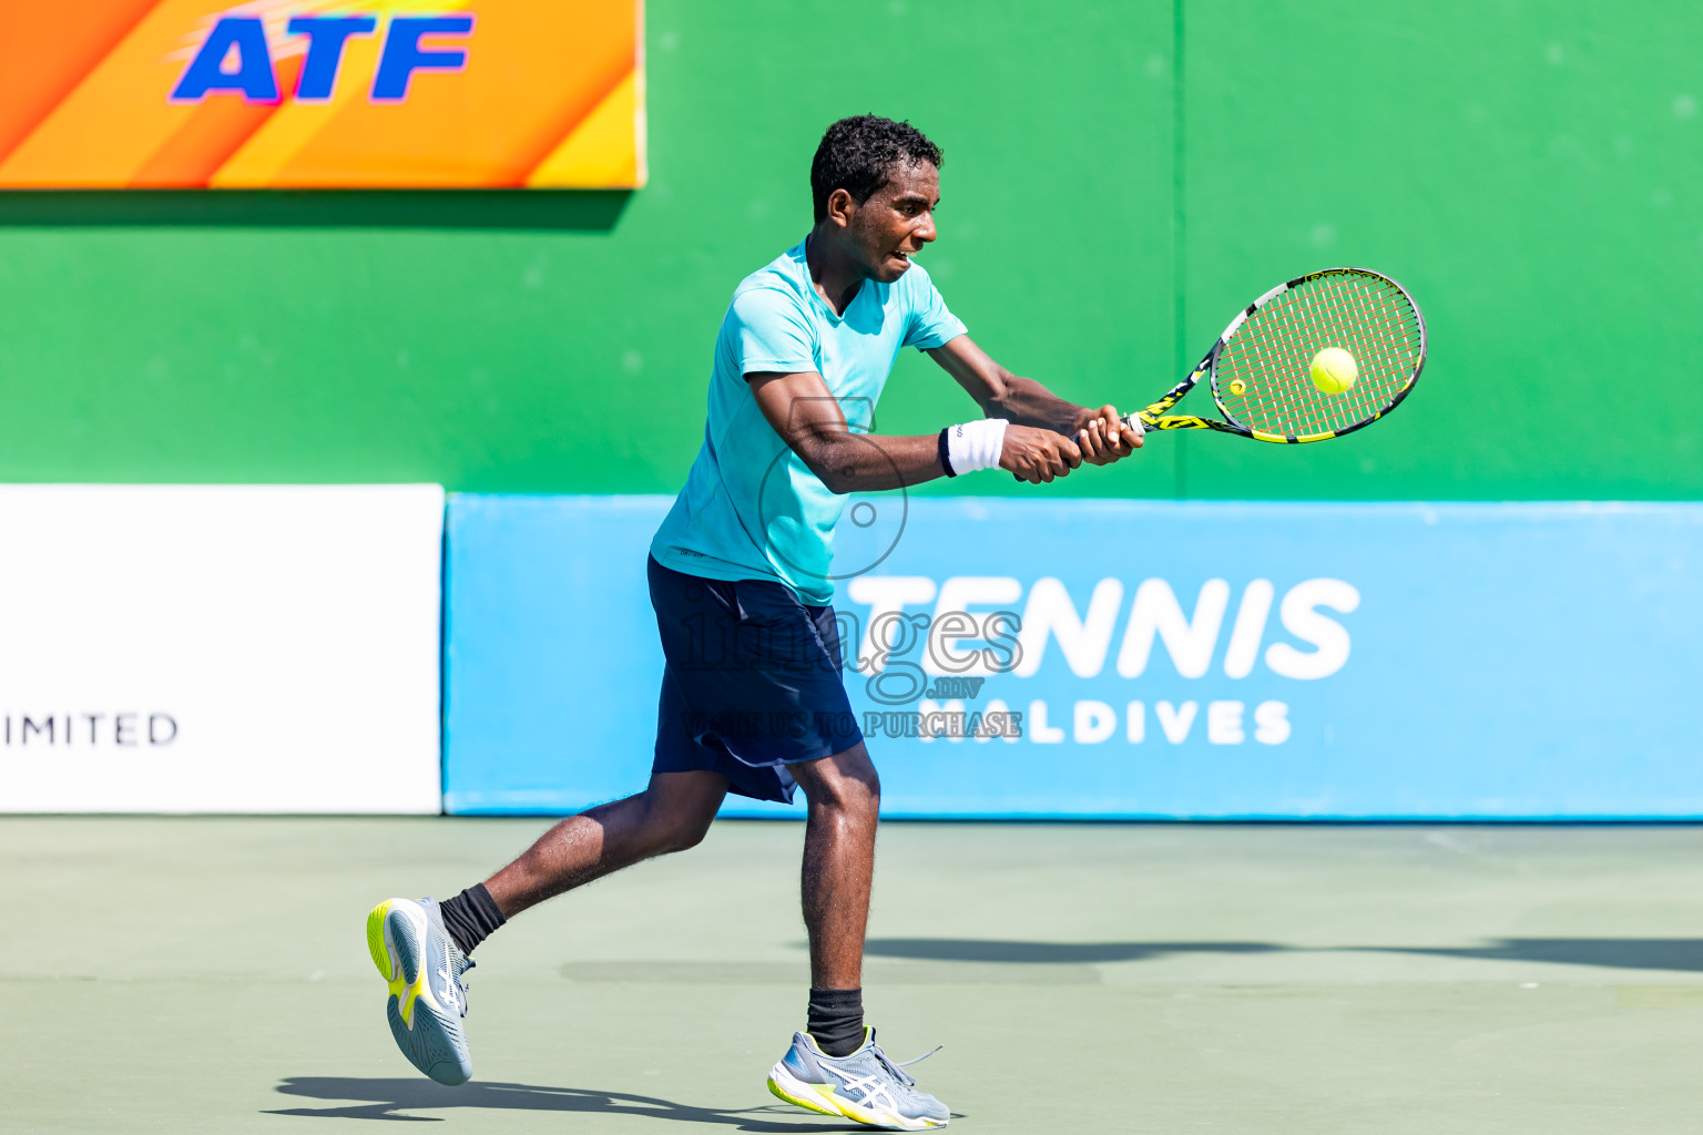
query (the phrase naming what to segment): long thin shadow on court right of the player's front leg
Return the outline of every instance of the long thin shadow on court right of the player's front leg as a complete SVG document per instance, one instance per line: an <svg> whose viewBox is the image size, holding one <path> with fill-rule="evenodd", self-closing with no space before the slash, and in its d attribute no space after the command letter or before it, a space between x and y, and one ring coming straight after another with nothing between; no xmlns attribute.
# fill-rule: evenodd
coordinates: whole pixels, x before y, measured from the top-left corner
<svg viewBox="0 0 1703 1135"><path fill-rule="evenodd" d="M1611 970L1703 972L1703 938L1497 938L1483 946L1282 946L1277 943L1035 943L981 938L872 938L865 953L925 961L1092 965L1170 955L1402 953L1490 961L1550 961Z"/></svg>

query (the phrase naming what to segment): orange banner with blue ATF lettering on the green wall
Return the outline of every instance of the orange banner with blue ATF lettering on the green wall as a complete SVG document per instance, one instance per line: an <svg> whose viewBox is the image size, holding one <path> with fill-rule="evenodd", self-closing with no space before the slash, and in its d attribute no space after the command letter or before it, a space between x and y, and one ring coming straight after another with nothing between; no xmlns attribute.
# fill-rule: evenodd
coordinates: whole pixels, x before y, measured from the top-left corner
<svg viewBox="0 0 1703 1135"><path fill-rule="evenodd" d="M0 189L637 189L642 0L0 5Z"/></svg>

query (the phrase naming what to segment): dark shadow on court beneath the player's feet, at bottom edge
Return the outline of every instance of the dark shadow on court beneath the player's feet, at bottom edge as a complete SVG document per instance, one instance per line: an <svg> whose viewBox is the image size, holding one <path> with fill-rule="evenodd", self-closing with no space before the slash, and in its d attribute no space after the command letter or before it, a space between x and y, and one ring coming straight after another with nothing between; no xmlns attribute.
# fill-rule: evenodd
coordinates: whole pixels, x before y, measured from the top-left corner
<svg viewBox="0 0 1703 1135"><path fill-rule="evenodd" d="M599 1092L584 1087L540 1087L536 1084L492 1084L473 1081L462 1087L444 1087L424 1079L359 1079L347 1075L290 1075L278 1086L284 1096L339 1101L330 1108L281 1108L264 1115L298 1115L315 1120L404 1120L438 1123L443 1116L402 1115L426 1109L490 1111L579 1111L593 1115L632 1115L685 1123L722 1123L739 1132L787 1135L807 1132L865 1130L857 1123L811 1123L785 1104L763 1108L695 1108L657 1096ZM354 1101L354 1103L351 1103ZM773 1116L773 1118L770 1118Z"/></svg>

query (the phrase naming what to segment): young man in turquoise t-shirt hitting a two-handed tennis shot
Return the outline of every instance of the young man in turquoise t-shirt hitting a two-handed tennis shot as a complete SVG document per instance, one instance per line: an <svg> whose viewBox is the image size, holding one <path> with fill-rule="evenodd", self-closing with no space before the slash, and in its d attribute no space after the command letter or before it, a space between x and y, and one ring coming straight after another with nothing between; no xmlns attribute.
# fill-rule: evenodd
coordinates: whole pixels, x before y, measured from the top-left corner
<svg viewBox="0 0 1703 1135"><path fill-rule="evenodd" d="M545 898L695 846L729 791L790 801L804 788L807 1026L770 1089L872 1126L947 1123L947 1108L915 1091L863 1024L880 790L862 735L845 725L828 582L834 522L850 492L991 468L1042 483L1127 456L1141 436L1110 405L1090 410L1013 376L964 334L911 262L935 238L938 170L940 150L904 123L834 123L811 165L814 228L734 291L703 448L647 563L668 657L649 788L562 820L453 898L392 898L368 915L392 1033L429 1077L472 1075L462 973L487 934ZM857 432L901 347L926 351L986 417L918 437ZM707 643L705 628L725 635Z"/></svg>

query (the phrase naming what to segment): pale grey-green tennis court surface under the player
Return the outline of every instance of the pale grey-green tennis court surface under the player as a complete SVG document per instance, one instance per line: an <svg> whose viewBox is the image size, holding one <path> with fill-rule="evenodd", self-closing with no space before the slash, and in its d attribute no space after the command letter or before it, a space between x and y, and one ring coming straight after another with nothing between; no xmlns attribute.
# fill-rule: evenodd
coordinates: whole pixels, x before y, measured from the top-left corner
<svg viewBox="0 0 1703 1135"><path fill-rule="evenodd" d="M470 975L475 1081L395 1052L363 917L540 820L0 822L0 1128L817 1132L802 827L555 900ZM1703 830L882 830L870 1019L967 1132L1689 1132Z"/></svg>

